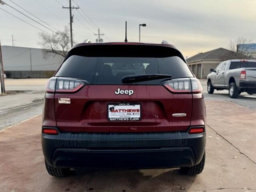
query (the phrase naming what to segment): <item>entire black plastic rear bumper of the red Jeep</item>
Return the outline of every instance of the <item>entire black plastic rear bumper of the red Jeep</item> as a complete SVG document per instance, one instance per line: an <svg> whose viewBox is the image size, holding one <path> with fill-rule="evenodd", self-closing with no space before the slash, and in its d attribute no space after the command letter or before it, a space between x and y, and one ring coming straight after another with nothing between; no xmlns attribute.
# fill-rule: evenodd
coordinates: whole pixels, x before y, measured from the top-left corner
<svg viewBox="0 0 256 192"><path fill-rule="evenodd" d="M205 133L59 133L42 134L46 161L72 168L175 168L198 164Z"/></svg>

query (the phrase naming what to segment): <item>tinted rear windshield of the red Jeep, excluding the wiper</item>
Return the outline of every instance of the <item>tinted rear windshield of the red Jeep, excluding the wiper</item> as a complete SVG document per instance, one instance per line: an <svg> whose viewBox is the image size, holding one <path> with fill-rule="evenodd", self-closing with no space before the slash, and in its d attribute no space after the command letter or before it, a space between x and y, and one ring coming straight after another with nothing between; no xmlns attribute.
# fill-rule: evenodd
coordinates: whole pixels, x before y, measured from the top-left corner
<svg viewBox="0 0 256 192"><path fill-rule="evenodd" d="M85 57L72 55L55 76L84 79L90 84L123 84L127 75L166 74L172 78L193 77L187 64L178 56L153 57ZM159 84L163 79L133 84Z"/></svg>

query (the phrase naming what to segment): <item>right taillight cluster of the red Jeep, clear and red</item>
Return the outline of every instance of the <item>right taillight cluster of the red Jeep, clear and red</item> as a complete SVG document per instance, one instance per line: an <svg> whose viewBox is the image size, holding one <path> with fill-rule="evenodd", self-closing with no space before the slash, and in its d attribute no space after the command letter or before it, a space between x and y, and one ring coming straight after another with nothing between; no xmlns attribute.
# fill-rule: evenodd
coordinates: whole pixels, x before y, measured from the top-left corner
<svg viewBox="0 0 256 192"><path fill-rule="evenodd" d="M200 81L196 78L173 79L166 82L164 86L174 93L200 93L203 91Z"/></svg>

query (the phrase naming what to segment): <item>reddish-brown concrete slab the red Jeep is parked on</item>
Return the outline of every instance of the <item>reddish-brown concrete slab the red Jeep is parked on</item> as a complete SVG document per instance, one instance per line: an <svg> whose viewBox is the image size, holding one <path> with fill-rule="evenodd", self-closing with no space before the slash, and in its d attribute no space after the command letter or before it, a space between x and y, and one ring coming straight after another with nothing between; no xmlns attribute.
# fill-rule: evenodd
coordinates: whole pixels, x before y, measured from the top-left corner
<svg viewBox="0 0 256 192"><path fill-rule="evenodd" d="M209 126L200 175L180 175L178 169L78 170L54 178L44 167L39 115L0 132L0 191L256 191L256 111L227 101L218 105L206 101Z"/></svg>

